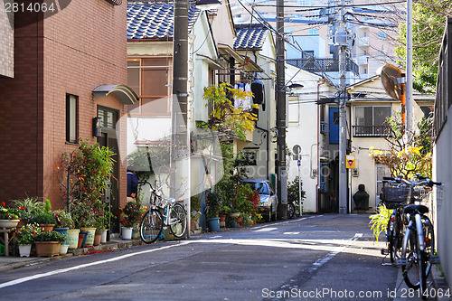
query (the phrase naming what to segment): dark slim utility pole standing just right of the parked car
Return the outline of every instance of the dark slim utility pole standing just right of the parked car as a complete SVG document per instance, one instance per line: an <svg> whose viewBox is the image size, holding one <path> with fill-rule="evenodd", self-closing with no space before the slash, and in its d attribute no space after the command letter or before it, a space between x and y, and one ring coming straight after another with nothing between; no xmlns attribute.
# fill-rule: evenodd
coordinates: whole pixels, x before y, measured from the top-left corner
<svg viewBox="0 0 452 301"><path fill-rule="evenodd" d="M277 173L278 216L287 219L287 169L286 169L286 70L284 47L284 0L277 0Z"/></svg>

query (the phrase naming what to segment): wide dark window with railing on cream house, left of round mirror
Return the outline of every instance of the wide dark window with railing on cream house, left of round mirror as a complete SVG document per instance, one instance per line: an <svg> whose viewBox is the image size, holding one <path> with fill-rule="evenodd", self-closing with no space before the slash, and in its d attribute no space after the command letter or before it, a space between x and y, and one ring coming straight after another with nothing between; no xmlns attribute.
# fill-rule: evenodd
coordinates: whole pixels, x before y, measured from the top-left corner
<svg viewBox="0 0 452 301"><path fill-rule="evenodd" d="M353 136L384 136L386 119L391 117L391 106L354 108Z"/></svg>

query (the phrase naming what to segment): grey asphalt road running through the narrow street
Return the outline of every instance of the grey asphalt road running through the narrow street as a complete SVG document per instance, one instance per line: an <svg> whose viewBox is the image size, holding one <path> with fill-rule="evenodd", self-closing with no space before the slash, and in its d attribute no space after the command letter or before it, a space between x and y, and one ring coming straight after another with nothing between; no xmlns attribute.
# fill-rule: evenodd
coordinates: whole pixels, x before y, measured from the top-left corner
<svg viewBox="0 0 452 301"><path fill-rule="evenodd" d="M367 215L306 216L0 274L2 300L413 300ZM388 260L386 260L388 261ZM399 281L399 283L398 283Z"/></svg>

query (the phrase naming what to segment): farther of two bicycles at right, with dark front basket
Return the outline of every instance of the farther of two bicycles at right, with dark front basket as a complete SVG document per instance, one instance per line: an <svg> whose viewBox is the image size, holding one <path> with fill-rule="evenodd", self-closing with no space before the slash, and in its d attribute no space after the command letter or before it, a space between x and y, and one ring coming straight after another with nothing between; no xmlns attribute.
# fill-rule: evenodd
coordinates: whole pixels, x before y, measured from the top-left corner
<svg viewBox="0 0 452 301"><path fill-rule="evenodd" d="M381 249L382 255L390 255L391 263L400 257L401 239L404 232L403 208L414 203L409 183L399 178L383 176L381 187L381 203L387 209L392 209L391 217L386 228L386 241L388 249Z"/></svg>

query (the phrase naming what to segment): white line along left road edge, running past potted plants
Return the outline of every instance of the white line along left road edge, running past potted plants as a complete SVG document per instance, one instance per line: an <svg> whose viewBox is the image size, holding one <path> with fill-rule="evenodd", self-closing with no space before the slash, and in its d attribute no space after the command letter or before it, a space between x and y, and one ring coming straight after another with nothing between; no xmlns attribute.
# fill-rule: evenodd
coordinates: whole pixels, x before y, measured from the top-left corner
<svg viewBox="0 0 452 301"><path fill-rule="evenodd" d="M33 275L33 276L29 276L29 277L23 277L23 278L15 279L15 280L8 281L8 282L5 282L5 283L0 283L0 288L12 287L12 286L15 286L15 285L17 285L19 283L24 283L24 282L31 281L31 280L34 280L34 279L39 279L39 278L42 278L42 277L49 277L49 276L53 276L53 275L58 275L58 274L61 274L61 273L70 272L71 270L76 270L76 269L80 269L80 268L89 268L89 267L93 267L93 266L98 266L100 264L113 262L113 261L117 261L117 260L121 260L121 259L127 259L129 257L136 256L136 255L142 255L142 254L152 253L152 252L163 250L163 249L170 249L170 248L174 248L174 247L180 247L180 246L187 245L187 244L189 244L191 242L193 242L193 241L183 241L183 242L180 242L180 243L177 243L177 244L174 244L174 245L165 246L165 247L158 248L158 249L147 249L147 250L144 250L144 251L141 251L141 252L137 252L137 253L129 253L129 254L125 254L125 255L122 255L122 256L118 256L118 257L113 258L113 259L105 259L105 260L100 260L100 261L96 261L96 262L86 263L86 264L83 264L83 265L80 265L80 266L71 267L71 268L61 268L61 269L53 270L53 271L50 271L50 272L47 272L47 273L36 274L36 275Z"/></svg>

